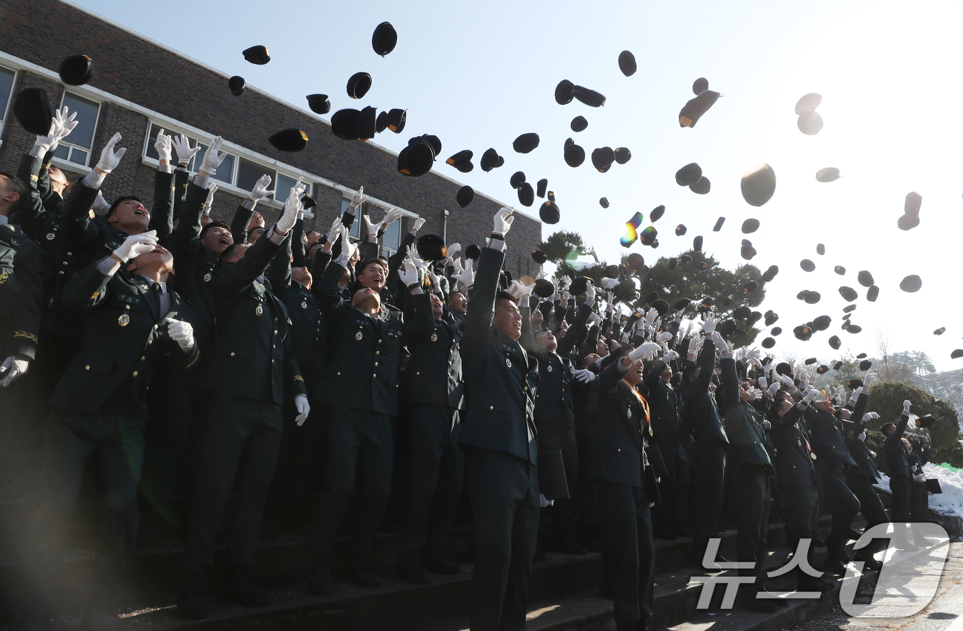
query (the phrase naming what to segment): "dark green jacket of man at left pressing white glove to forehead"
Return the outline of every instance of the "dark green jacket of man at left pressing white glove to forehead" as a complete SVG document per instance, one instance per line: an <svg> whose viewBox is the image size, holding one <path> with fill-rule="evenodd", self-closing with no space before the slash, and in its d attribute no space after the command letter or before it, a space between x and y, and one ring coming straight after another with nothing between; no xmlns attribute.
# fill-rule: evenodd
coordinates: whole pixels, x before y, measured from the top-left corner
<svg viewBox="0 0 963 631"><path fill-rule="evenodd" d="M147 419L145 395L154 365L163 353L179 358L183 369L197 366L195 346L185 355L168 335L167 318L191 322L194 309L175 292L170 308L158 310L150 281L89 265L64 288L65 302L86 309L84 345L61 376L50 405L76 412L103 411Z"/></svg>

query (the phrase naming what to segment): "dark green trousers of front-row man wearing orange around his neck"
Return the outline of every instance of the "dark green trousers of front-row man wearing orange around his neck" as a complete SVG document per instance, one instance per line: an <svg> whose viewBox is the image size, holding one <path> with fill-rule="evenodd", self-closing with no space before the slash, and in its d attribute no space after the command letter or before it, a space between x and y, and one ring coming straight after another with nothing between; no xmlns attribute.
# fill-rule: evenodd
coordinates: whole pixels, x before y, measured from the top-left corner
<svg viewBox="0 0 963 631"><path fill-rule="evenodd" d="M645 489L597 480L602 508L602 556L612 584L616 624L652 615L656 544Z"/></svg>

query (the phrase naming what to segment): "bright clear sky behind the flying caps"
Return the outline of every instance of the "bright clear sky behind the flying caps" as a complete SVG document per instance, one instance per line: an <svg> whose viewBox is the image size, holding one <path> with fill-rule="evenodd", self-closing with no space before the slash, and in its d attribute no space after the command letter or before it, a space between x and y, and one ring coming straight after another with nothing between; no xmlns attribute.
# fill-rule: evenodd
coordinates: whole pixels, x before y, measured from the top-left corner
<svg viewBox="0 0 963 631"><path fill-rule="evenodd" d="M748 236L759 252L752 263L780 268L761 306L780 315L785 332L776 338L777 355L827 362L847 351L873 356L880 331L891 351L925 351L938 369L963 367L963 360L950 360L950 351L963 347L963 3L169 0L163 11L143 0L78 4L305 110L304 96L313 92L330 95L332 114L406 108L403 135L379 134L378 144L399 151L412 136L434 134L443 143L436 170L519 208L511 174L522 170L533 183L548 178L561 221L546 225L543 236L578 231L610 263L626 251L618 242L624 222L660 204L660 248L631 249L650 263L703 235L704 251L721 265L741 265L740 226L758 218L761 228ZM381 58L371 36L384 20L399 40ZM271 63L244 61L241 51L254 44L269 47ZM629 78L617 65L624 49L638 62ZM374 83L355 101L345 85L358 71L371 73ZM724 97L694 128L680 128L678 112L698 77ZM559 106L553 95L561 79L602 92L605 107ZM811 91L822 95L825 126L817 136L795 124L795 102ZM579 114L588 128L574 134L569 122ZM540 146L514 153L512 140L527 132L540 136ZM586 154L629 147L632 161L604 174L587 159L570 168L562 160L569 137ZM488 147L506 163L485 173L478 161ZM461 149L475 152L471 173L443 163ZM709 194L675 184L675 171L690 162L711 180ZM762 208L740 193L742 172L758 162L770 164L777 178ZM816 171L826 166L844 177L817 182ZM903 232L897 220L911 190L923 195L921 222ZM603 195L612 203L606 210L598 204ZM540 201L525 210L536 214ZM472 212L454 199L450 210ZM725 225L713 233L719 216ZM678 223L689 227L685 237L675 237ZM818 243L825 256L816 253ZM802 259L814 261L816 271L804 272ZM834 265L844 265L846 276ZM856 281L861 269L880 288L874 303ZM908 274L923 278L922 290L899 290ZM863 332L855 336L840 330L847 304L841 285L860 292L851 321ZM819 290L820 303L796 300L800 290ZM794 339L794 326L823 314L833 318L829 330L808 342ZM941 326L946 334L933 336ZM840 351L829 347L832 335L843 340Z"/></svg>

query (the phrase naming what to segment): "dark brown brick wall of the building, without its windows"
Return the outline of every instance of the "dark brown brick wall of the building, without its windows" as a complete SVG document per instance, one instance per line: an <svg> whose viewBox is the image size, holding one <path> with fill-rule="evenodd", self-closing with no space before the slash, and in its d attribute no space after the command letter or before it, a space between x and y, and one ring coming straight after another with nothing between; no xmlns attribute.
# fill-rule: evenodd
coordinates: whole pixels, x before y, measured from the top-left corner
<svg viewBox="0 0 963 631"><path fill-rule="evenodd" d="M449 242L459 242L463 247L482 244L491 232L491 217L498 211L498 204L481 194L476 194L475 201L462 209L455 202L460 185L434 173L405 177L398 173L397 158L392 153L365 142L338 139L325 121L264 94L248 89L243 96L234 97L227 89L225 76L57 0L3 2L0 50L54 71L70 55L90 55L95 64L91 87L350 189L364 186L366 193L425 217L422 234L442 234L445 209L450 213ZM34 86L47 90L52 103L60 102L63 86L31 72L18 74L14 92ZM10 118L0 147L3 170L15 170L20 155L34 141L13 116ZM131 193L151 199L153 169L141 164L148 124L143 114L117 104L101 106L91 164L95 164L104 143L116 132L123 135L121 145L127 147L127 155L105 184L108 199ZM310 140L304 151L281 152L268 142L274 131L286 127L298 127L307 133ZM436 168L451 169L443 160L454 152L453 147L443 147ZM341 211L341 193L322 186L315 189L318 208L308 229L325 232L332 217ZM218 192L214 215L229 221L240 201L234 195ZM273 209L259 210L269 220L277 217ZM408 227L405 220L403 231ZM531 259L531 251L539 240L541 223L517 216L508 236L506 261L516 278L534 274L537 265Z"/></svg>

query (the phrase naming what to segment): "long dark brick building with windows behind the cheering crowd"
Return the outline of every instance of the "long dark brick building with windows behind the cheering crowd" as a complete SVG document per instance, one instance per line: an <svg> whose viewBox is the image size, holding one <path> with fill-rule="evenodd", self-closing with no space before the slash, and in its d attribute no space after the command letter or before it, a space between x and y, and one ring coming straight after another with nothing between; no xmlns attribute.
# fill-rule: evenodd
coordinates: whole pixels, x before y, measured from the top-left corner
<svg viewBox="0 0 963 631"><path fill-rule="evenodd" d="M57 74L70 55L90 55L94 74L86 86L65 86ZM363 186L370 196L367 212L379 219L387 207L404 212L391 226L384 247L393 251L401 235L418 216L427 219L420 234L433 233L449 243L483 244L491 232L491 217L505 206L480 191L466 209L455 202L462 185L431 171L406 177L397 170L397 154L374 142L335 137L320 117L300 110L270 94L247 88L234 97L228 76L177 54L115 23L58 0L9 0L0 5L0 169L16 170L34 137L13 119L13 98L23 88L43 88L51 107L66 105L81 121L65 139L54 164L71 174L85 175L96 164L104 143L116 132L127 153L107 178L108 200L120 194L152 198L157 161L157 129L186 134L206 145L224 139L229 157L215 176L219 190L212 215L230 221L259 176L273 178L277 198L284 200L293 183L303 177L317 201L315 218L306 230L325 232L347 206L351 194ZM275 149L268 137L295 127L310 139L299 153ZM390 133L390 132L385 132ZM442 139L444 140L444 139ZM447 155L447 154L444 154ZM193 168L200 164L195 156ZM436 165L444 164L439 156ZM447 165L446 165L447 168ZM258 211L270 222L281 203L266 200ZM541 222L516 213L512 224L506 268L515 278L534 275L530 253L541 240ZM352 228L357 234L360 217ZM401 225L399 226L399 223Z"/></svg>

